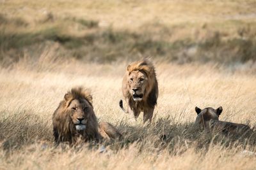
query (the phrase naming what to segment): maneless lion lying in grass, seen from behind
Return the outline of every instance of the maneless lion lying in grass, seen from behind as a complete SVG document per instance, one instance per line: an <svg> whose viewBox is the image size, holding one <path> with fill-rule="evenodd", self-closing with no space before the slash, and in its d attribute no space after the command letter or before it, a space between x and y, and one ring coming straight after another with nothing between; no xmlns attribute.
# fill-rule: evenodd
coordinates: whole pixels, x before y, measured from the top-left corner
<svg viewBox="0 0 256 170"><path fill-rule="evenodd" d="M223 111L221 106L216 110L214 108L204 108L204 110L201 110L196 107L195 111L197 113L195 123L200 126L200 129L204 129L205 132L222 132L233 135L243 135L252 132L248 125L220 121L219 117Z"/></svg>

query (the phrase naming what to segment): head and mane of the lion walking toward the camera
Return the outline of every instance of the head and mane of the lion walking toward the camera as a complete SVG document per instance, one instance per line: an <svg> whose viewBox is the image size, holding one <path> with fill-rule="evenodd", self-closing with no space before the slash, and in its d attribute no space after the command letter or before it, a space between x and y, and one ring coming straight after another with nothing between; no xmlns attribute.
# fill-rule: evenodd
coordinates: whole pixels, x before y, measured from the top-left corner
<svg viewBox="0 0 256 170"><path fill-rule="evenodd" d="M125 96L132 97L134 101L147 99L152 89L156 88L156 83L155 69L148 59L139 60L127 66L123 81Z"/></svg>

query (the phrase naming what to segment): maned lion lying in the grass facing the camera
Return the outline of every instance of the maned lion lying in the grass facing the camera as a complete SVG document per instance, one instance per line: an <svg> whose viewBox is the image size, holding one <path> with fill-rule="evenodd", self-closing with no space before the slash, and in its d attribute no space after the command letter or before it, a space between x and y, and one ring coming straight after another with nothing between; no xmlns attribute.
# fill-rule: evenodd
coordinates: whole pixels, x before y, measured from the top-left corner
<svg viewBox="0 0 256 170"><path fill-rule="evenodd" d="M105 139L120 139L122 134L108 122L98 124L93 111L92 95L83 87L72 88L65 94L52 115L54 141L70 145L77 139L99 143Z"/></svg>

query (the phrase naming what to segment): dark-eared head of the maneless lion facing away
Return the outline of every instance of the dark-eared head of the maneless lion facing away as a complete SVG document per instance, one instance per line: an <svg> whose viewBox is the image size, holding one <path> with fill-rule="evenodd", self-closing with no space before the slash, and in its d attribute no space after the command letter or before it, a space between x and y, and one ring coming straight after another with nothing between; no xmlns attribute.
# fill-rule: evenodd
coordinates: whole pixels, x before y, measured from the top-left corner
<svg viewBox="0 0 256 170"><path fill-rule="evenodd" d="M209 121L212 120L219 120L220 113L222 112L222 107L218 109L214 108L204 108L201 110L200 108L196 107L195 111L197 113L196 117L196 125L200 125L200 129L209 129Z"/></svg>

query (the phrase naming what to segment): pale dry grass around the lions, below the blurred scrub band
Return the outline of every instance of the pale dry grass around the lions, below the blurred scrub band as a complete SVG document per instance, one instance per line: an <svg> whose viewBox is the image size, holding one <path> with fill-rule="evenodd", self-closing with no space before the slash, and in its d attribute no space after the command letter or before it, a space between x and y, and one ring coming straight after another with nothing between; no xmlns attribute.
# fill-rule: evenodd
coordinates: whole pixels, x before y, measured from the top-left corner
<svg viewBox="0 0 256 170"><path fill-rule="evenodd" d="M51 52L48 53L51 55ZM134 122L118 106L126 62L93 64L20 60L0 71L1 169L253 169L255 134L250 138L205 136L195 129L195 106L223 106L221 120L256 124L254 74L207 64L157 62L159 100L152 124ZM44 63L47 62L47 64ZM52 64L56 64L52 68ZM114 124L124 140L97 147L54 148L51 116L71 87L92 89L99 121ZM107 96L107 97L106 97ZM166 141L160 137L166 134Z"/></svg>

